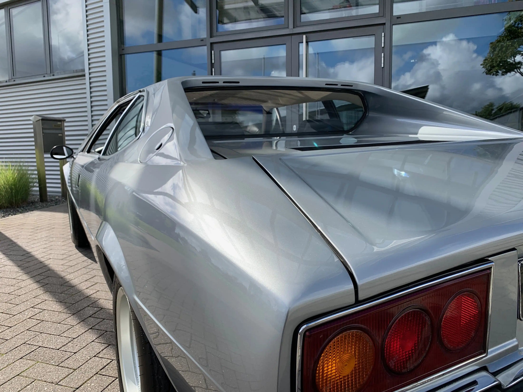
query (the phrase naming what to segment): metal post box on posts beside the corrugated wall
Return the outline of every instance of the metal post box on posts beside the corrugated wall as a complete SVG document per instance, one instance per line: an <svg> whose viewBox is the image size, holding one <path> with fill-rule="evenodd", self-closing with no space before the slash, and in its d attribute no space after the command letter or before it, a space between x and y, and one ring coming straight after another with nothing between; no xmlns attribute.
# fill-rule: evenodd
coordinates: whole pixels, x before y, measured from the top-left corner
<svg viewBox="0 0 523 392"><path fill-rule="evenodd" d="M32 116L33 133L35 134L36 171L40 201L47 201L47 179L44 154L49 154L51 148L65 145L65 119L49 116ZM64 159L60 160L60 187L62 197L65 197L65 179L63 175Z"/></svg>

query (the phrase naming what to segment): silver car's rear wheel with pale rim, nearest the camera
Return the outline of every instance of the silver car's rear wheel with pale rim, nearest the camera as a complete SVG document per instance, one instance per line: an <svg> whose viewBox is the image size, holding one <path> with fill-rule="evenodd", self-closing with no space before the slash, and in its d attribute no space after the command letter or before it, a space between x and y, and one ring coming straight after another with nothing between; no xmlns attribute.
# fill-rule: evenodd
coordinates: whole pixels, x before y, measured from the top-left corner
<svg viewBox="0 0 523 392"><path fill-rule="evenodd" d="M115 277L113 315L121 392L176 392Z"/></svg>

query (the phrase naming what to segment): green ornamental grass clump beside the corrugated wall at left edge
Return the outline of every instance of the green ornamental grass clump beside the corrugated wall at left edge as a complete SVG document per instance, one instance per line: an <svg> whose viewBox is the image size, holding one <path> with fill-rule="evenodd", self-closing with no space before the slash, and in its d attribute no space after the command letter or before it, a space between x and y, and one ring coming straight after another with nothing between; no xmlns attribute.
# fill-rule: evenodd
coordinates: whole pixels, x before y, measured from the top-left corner
<svg viewBox="0 0 523 392"><path fill-rule="evenodd" d="M25 165L0 162L0 209L25 203L34 185L35 179Z"/></svg>

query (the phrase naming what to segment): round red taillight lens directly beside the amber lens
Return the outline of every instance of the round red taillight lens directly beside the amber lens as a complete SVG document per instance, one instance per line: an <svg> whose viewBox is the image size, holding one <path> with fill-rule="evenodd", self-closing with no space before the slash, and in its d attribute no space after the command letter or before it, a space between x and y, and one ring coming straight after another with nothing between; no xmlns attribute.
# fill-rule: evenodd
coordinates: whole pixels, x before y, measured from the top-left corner
<svg viewBox="0 0 523 392"><path fill-rule="evenodd" d="M430 317L420 309L408 310L392 324L385 338L385 363L395 373L413 370L427 354L432 330Z"/></svg>

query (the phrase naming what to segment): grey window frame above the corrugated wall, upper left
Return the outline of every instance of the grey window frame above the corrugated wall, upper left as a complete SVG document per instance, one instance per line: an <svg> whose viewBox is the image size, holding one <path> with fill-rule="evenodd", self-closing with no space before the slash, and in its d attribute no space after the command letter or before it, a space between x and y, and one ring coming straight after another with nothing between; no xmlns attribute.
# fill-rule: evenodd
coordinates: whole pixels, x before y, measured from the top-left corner
<svg viewBox="0 0 523 392"><path fill-rule="evenodd" d="M36 74L36 75L29 75L29 76L16 76L16 68L15 68L15 54L14 54L14 44L13 44L13 25L11 22L11 15L10 10L19 6L31 4L31 3L38 3L41 4L41 11L42 11L42 28L43 28L43 51L44 56L46 60L46 72L43 74ZM56 71L53 69L53 62L52 62L52 44L51 44L51 25L50 25L50 7L49 7L49 0L23 0L18 2L12 2L7 3L5 5L0 5L0 12L4 13L5 17L5 32L6 32L6 47L7 47L7 62L8 62L8 79L6 80L0 80L0 86L3 83L9 83L9 82L17 82L19 80L28 80L28 79L39 79L49 76L56 76L56 75L67 75L67 74L78 74L85 72L85 68L80 68L78 70L73 71ZM82 29L82 34L84 34L84 31ZM85 40L86 37L84 35L84 49L85 49ZM84 50L84 56L85 56L85 50Z"/></svg>

